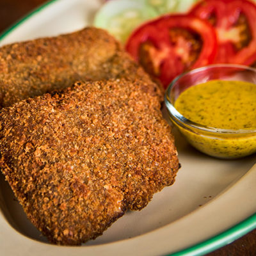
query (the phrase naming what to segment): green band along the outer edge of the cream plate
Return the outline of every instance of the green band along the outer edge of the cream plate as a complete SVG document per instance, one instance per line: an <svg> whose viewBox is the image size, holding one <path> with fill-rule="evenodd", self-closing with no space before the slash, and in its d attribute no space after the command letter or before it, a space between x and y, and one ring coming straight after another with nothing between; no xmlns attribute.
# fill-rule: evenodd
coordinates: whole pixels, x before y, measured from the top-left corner
<svg viewBox="0 0 256 256"><path fill-rule="evenodd" d="M35 15L36 13L42 11L45 7L51 5L54 2L60 0L50 0L46 3L42 4L32 12L29 12L28 15L24 16L22 19L18 20L10 26L10 28L4 30L3 33L0 35L0 41L3 40L9 33L11 33L15 28L20 26L24 21L28 20L31 16ZM229 243L232 243L236 239L244 236L248 232L252 231L256 228L256 213L247 218L244 221L241 221L239 224L235 225L232 228L218 234L217 236L211 237L203 241L202 243L198 243L194 246L186 248L184 250L180 250L179 252L168 254L167 256L200 256L205 255L205 253L212 252L225 246Z"/></svg>

